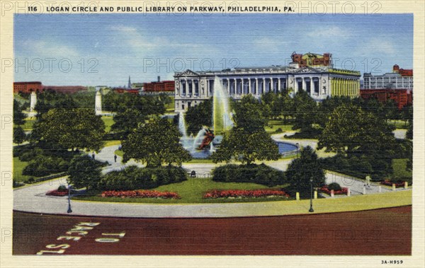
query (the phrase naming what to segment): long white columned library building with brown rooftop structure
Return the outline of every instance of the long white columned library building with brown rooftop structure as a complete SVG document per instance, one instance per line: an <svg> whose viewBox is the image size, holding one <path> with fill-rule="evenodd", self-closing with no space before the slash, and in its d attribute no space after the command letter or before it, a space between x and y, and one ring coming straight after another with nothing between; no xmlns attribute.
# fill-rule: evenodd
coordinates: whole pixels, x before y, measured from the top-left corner
<svg viewBox="0 0 425 268"><path fill-rule="evenodd" d="M234 99L252 94L300 89L316 101L331 96L356 98L360 91L360 72L331 68L331 54L307 53L292 55L289 66L266 66L224 69L222 71L186 70L174 75L175 111L186 111L212 97L215 77ZM313 67L314 66L314 67Z"/></svg>

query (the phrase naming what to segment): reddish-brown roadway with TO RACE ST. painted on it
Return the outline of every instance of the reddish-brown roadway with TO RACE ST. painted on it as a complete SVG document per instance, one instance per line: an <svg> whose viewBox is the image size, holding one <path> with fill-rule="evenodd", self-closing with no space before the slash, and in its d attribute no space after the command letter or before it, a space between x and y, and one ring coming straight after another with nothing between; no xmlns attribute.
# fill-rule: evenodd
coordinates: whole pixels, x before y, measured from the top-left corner
<svg viewBox="0 0 425 268"><path fill-rule="evenodd" d="M100 224L89 227L96 223ZM83 228L85 235L78 231L67 234L75 226L89 228ZM125 235L120 238L119 233ZM98 238L104 240L96 242ZM110 240L117 242L105 242ZM52 251L43 255L58 255L55 251L62 247L67 248L61 255L411 255L412 206L221 219L128 219L14 211L14 255L35 255L41 250Z"/></svg>

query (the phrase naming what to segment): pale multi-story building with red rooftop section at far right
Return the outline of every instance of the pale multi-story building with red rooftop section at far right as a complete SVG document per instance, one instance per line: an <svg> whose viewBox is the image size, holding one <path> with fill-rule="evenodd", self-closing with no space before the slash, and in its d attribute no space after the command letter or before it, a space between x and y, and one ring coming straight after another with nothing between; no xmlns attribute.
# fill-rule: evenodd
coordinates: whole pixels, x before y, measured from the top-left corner
<svg viewBox="0 0 425 268"><path fill-rule="evenodd" d="M382 75L363 74L366 89L409 89L413 90L413 70L400 69L397 64L392 67L392 73Z"/></svg>

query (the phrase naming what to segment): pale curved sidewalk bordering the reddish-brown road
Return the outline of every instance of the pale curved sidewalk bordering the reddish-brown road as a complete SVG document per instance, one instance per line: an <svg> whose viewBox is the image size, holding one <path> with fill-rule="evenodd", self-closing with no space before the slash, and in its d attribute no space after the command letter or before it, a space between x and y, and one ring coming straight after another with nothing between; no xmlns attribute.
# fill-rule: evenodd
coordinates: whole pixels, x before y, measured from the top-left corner
<svg viewBox="0 0 425 268"><path fill-rule="evenodd" d="M200 179L202 180L202 179ZM67 197L48 197L45 193L66 185L65 177L13 190L13 209L40 214L67 214ZM217 204L135 204L84 202L72 200L74 216L115 216L146 218L221 218L239 216L280 216L308 214L310 200ZM399 190L345 198L314 200L314 213L359 211L412 204L412 191Z"/></svg>

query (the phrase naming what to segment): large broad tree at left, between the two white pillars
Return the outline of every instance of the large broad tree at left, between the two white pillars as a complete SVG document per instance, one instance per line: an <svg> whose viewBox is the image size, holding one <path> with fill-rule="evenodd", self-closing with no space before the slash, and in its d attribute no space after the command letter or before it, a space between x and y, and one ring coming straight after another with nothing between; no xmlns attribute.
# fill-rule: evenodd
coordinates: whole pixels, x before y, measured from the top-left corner
<svg viewBox="0 0 425 268"><path fill-rule="evenodd" d="M58 144L62 148L99 151L103 147L105 124L94 109L53 108L34 124L32 139Z"/></svg>

